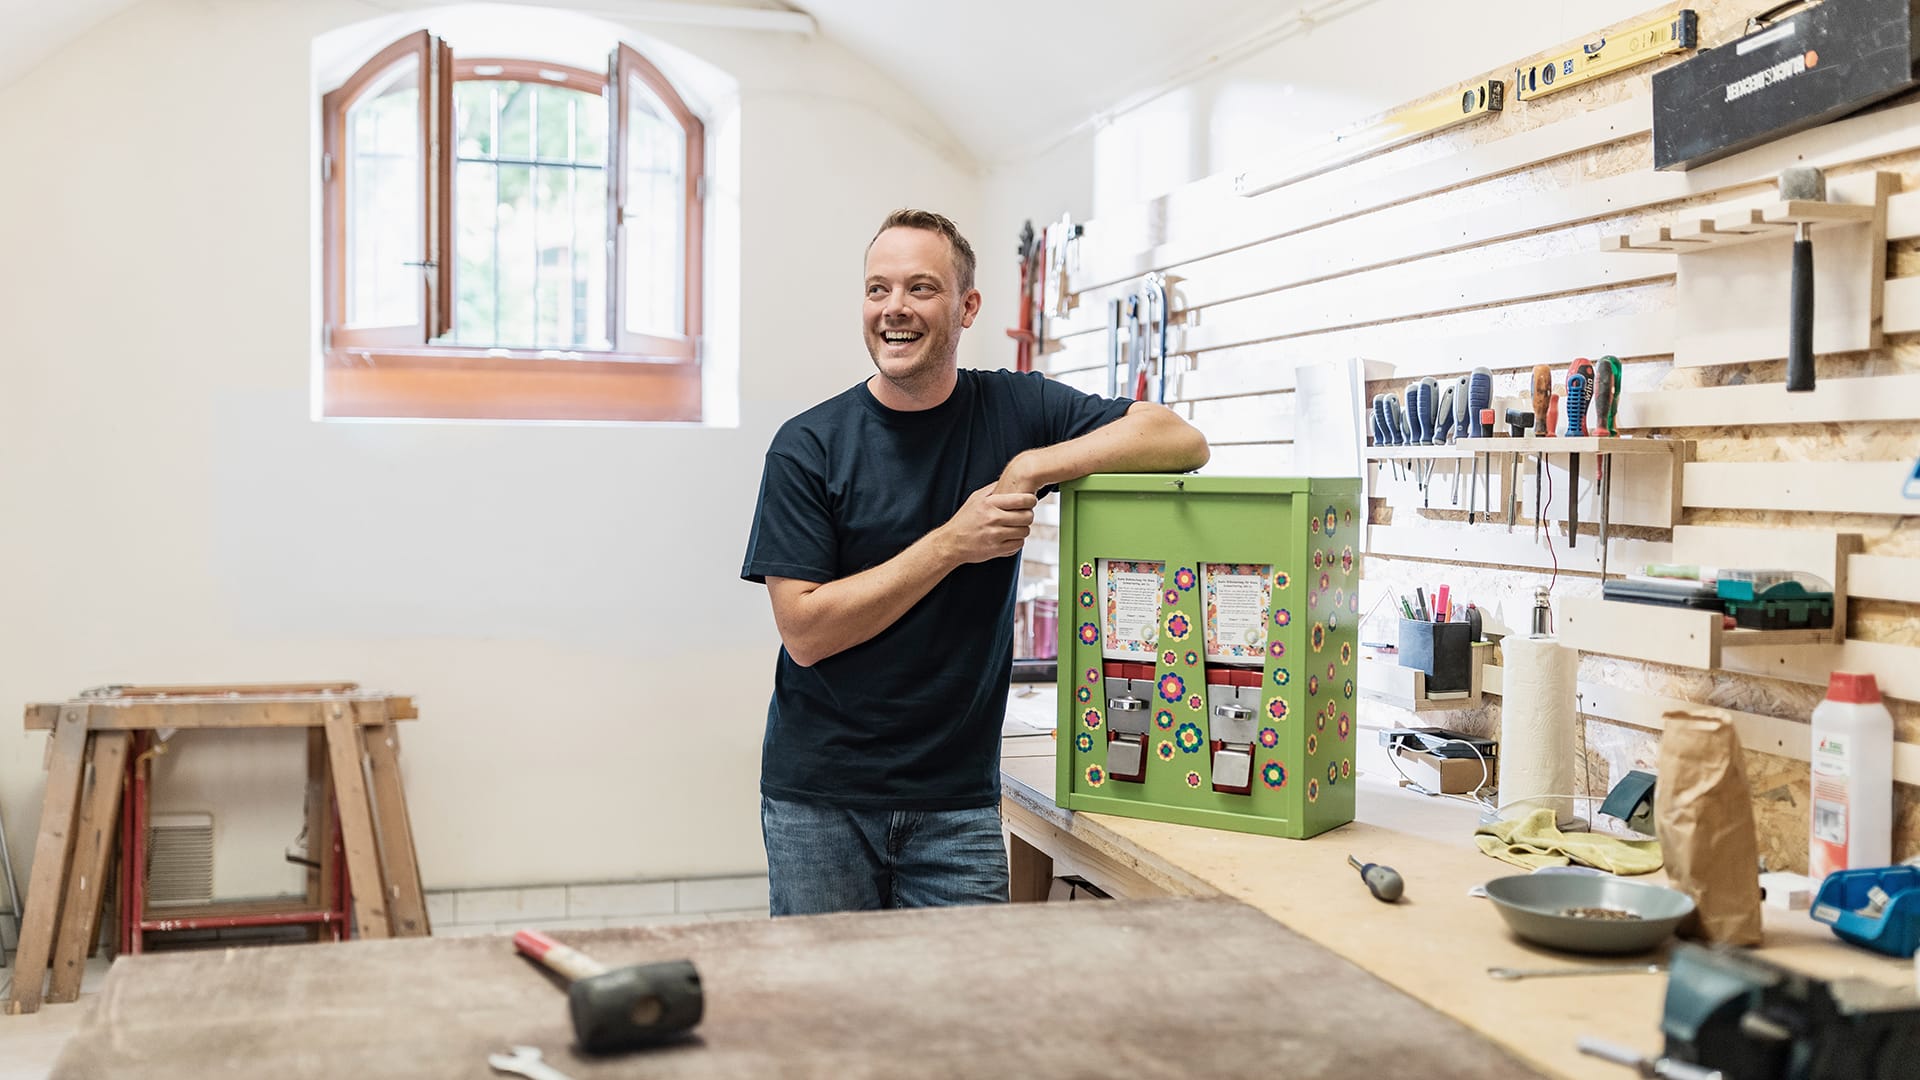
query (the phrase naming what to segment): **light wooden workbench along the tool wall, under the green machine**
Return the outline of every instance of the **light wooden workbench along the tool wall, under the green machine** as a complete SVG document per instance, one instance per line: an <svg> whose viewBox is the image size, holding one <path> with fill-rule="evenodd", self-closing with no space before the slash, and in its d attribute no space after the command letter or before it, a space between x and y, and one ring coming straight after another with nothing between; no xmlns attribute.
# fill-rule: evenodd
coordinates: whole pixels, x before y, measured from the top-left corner
<svg viewBox="0 0 1920 1080"><path fill-rule="evenodd" d="M1361 778L1354 824L1313 840L1281 840L1054 805L1054 742L1004 742L1000 809L1010 838L1014 897L1041 899L1052 876L1075 874L1121 897L1225 896L1453 1017L1551 1076L1620 1080L1619 1065L1582 1057L1580 1036L1659 1051L1667 980L1659 974L1561 976L1500 982L1488 967L1607 963L1526 945L1490 901L1469 890L1517 867L1473 846L1478 811L1452 799ZM1384 863L1405 878L1405 899L1380 903L1346 865ZM1663 880L1651 874L1644 880ZM1841 944L1807 913L1766 911L1759 955L1824 976L1910 986L1908 961ZM1663 957L1636 957L1642 963ZM1357 1072L1363 1074L1363 1072Z"/></svg>

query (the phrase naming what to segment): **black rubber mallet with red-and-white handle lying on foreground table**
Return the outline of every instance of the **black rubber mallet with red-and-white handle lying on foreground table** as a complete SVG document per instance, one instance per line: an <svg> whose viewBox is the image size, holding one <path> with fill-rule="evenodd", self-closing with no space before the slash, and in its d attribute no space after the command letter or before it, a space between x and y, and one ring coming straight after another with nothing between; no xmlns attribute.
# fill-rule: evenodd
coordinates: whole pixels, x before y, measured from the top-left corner
<svg viewBox="0 0 1920 1080"><path fill-rule="evenodd" d="M707 997L693 961L609 969L540 930L516 932L513 945L566 976L574 1038L588 1053L657 1045L701 1022Z"/></svg>

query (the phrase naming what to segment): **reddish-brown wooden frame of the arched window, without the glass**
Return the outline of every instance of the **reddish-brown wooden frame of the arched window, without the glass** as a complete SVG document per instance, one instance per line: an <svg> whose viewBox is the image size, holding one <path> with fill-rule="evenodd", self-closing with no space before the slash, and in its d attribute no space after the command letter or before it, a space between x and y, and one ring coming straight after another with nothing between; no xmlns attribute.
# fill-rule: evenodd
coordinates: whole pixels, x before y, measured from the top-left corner
<svg viewBox="0 0 1920 1080"><path fill-rule="evenodd" d="M394 63L420 61L424 321L413 327L349 329L346 319L346 110ZM480 69L486 69L482 75ZM559 75L555 79L555 75ZM685 133L684 334L626 331L626 81L637 79ZM453 85L501 79L599 92L607 127L607 319L611 350L476 348L432 344L453 325ZM705 125L672 83L632 46L620 44L605 73L509 58L461 58L426 31L407 35L361 65L323 98L323 409L324 417L534 419L697 423L703 417L701 281ZM432 327L432 332L426 331Z"/></svg>

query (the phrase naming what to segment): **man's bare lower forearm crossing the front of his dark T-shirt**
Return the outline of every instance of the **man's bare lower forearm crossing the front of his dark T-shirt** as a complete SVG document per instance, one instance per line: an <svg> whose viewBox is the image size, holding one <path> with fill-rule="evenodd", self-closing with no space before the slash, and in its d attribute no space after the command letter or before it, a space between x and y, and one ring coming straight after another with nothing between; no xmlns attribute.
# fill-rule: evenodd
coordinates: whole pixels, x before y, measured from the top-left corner
<svg viewBox="0 0 1920 1080"><path fill-rule="evenodd" d="M776 605L780 640L795 663L812 667L899 623L958 565L935 528L877 567L801 590L785 611Z"/></svg>

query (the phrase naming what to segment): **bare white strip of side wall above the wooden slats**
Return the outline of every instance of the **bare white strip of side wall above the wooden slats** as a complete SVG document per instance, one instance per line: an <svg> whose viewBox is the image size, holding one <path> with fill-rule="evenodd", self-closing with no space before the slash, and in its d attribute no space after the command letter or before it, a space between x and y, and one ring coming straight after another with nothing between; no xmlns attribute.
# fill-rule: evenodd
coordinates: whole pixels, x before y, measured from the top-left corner
<svg viewBox="0 0 1920 1080"><path fill-rule="evenodd" d="M1521 58L1592 40L1649 6L1528 0L1463 13L1430 0L1357 0L1261 52L1167 86L1096 129L996 163L987 177L987 246L1018 234L1025 219L1039 227L1071 211L1085 221L1263 163L1461 79L1494 73L1511 83L1511 65ZM1275 8L1275 15L1283 12ZM1002 302L1004 290L989 292L981 319L1012 325L1018 307Z"/></svg>

